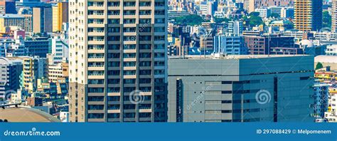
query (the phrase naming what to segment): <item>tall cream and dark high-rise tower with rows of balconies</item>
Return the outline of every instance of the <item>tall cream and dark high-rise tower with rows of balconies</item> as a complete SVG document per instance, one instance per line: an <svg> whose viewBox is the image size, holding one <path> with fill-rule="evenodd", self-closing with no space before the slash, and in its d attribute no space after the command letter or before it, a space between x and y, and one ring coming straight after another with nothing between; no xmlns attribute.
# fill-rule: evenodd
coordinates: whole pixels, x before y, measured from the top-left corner
<svg viewBox="0 0 337 141"><path fill-rule="evenodd" d="M69 1L70 122L167 120L166 2Z"/></svg>

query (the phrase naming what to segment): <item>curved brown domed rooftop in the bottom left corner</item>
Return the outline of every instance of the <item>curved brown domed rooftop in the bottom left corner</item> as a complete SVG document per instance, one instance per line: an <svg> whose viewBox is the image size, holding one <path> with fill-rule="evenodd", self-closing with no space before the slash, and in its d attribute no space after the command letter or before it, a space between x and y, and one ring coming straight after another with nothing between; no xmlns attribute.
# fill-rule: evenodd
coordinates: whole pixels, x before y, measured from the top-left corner
<svg viewBox="0 0 337 141"><path fill-rule="evenodd" d="M34 108L5 108L0 109L0 119L8 122L60 122L57 118Z"/></svg>

